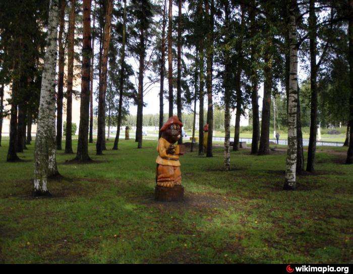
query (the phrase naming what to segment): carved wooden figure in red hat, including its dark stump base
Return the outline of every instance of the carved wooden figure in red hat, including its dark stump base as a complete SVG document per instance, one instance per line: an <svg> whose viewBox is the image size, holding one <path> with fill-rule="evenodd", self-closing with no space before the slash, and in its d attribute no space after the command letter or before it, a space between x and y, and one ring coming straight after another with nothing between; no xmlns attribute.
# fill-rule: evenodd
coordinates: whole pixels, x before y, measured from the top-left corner
<svg viewBox="0 0 353 274"><path fill-rule="evenodd" d="M158 201L179 201L184 197L179 157L185 153L185 146L174 145L181 137L182 127L178 116L173 116L160 129L155 189Z"/></svg>

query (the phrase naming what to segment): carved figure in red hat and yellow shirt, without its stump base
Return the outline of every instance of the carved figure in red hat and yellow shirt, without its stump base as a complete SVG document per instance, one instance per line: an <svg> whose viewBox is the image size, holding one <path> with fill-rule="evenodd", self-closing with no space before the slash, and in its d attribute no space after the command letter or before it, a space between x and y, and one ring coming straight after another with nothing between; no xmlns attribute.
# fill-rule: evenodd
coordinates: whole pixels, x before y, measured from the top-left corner
<svg viewBox="0 0 353 274"><path fill-rule="evenodd" d="M157 186L173 188L182 184L179 157L185 153L185 146L174 145L181 137L182 127L183 123L178 116L173 116L160 129L162 136L158 140L157 151L159 155L156 159Z"/></svg>

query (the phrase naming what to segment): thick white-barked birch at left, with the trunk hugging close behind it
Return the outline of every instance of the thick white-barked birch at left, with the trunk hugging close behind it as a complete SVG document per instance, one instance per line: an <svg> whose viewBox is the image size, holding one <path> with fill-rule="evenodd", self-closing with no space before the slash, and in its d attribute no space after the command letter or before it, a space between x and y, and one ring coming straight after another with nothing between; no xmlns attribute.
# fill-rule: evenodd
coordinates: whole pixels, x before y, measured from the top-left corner
<svg viewBox="0 0 353 274"><path fill-rule="evenodd" d="M55 147L55 85L58 0L50 0L47 48L40 89L39 115L34 150L34 194L48 193L47 178L57 173Z"/></svg>

